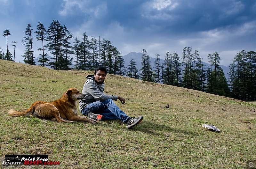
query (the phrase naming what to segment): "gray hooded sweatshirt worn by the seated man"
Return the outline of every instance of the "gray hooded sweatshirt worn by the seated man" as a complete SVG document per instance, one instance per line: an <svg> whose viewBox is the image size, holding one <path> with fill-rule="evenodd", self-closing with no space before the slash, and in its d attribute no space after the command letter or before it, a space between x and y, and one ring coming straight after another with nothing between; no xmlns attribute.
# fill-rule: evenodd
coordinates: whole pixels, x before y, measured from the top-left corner
<svg viewBox="0 0 256 169"><path fill-rule="evenodd" d="M85 94L84 99L79 100L79 110L82 112L85 106L95 101L104 101L107 99L117 100L117 96L104 94L104 83L99 84L94 79L94 75L88 75L88 80L84 83L82 93Z"/></svg>

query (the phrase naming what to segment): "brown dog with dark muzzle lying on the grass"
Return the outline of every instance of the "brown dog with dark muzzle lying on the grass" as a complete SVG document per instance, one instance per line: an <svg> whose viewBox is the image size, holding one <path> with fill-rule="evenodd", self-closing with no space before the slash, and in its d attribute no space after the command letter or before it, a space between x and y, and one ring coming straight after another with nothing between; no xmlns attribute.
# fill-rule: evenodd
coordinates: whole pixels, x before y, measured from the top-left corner
<svg viewBox="0 0 256 169"><path fill-rule="evenodd" d="M32 116L53 121L57 120L59 122L73 123L74 121L85 121L95 124L95 120L86 116L77 115L76 101L83 99L84 96L77 89L70 88L59 100L51 103L36 101L25 112L10 109L8 114L11 116Z"/></svg>

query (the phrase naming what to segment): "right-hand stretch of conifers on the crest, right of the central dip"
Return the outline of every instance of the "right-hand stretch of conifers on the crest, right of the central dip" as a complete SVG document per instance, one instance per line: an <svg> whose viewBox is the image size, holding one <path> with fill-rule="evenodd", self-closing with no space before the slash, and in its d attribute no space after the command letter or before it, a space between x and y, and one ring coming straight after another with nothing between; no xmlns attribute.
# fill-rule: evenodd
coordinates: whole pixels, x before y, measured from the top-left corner
<svg viewBox="0 0 256 169"><path fill-rule="evenodd" d="M190 47L185 47L181 58L177 53L166 52L163 63L160 62L160 55L156 54L153 69L149 55L143 49L140 75L133 59L129 62L126 75L149 82L180 86L244 101L255 100L256 52L242 50L234 57L229 66L229 83L220 67L221 59L218 52L209 54L207 58L210 65L205 69L199 52L197 50L192 52Z"/></svg>

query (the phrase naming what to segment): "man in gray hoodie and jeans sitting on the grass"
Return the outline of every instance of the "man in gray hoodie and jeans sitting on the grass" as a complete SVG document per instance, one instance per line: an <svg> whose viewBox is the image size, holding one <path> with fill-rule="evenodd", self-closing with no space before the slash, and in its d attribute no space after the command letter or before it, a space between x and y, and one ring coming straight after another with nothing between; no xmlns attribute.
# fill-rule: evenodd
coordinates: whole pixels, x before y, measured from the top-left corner
<svg viewBox="0 0 256 169"><path fill-rule="evenodd" d="M126 115L113 100L119 99L122 104L125 99L120 96L104 94L104 80L107 70L100 66L93 75L88 75L82 93L85 94L84 99L79 100L80 112L97 121L104 119L120 119L126 123L126 128L130 129L139 124L143 116L138 118Z"/></svg>

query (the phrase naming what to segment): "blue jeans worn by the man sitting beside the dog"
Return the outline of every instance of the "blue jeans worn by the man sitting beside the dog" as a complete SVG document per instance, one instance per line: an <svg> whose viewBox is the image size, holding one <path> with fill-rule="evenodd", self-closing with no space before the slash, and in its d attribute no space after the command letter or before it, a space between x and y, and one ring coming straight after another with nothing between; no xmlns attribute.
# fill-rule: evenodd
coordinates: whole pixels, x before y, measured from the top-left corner
<svg viewBox="0 0 256 169"><path fill-rule="evenodd" d="M90 103L84 107L81 113L87 115L90 112L101 114L106 119L121 119L123 122L129 119L129 116L126 115L112 99Z"/></svg>

